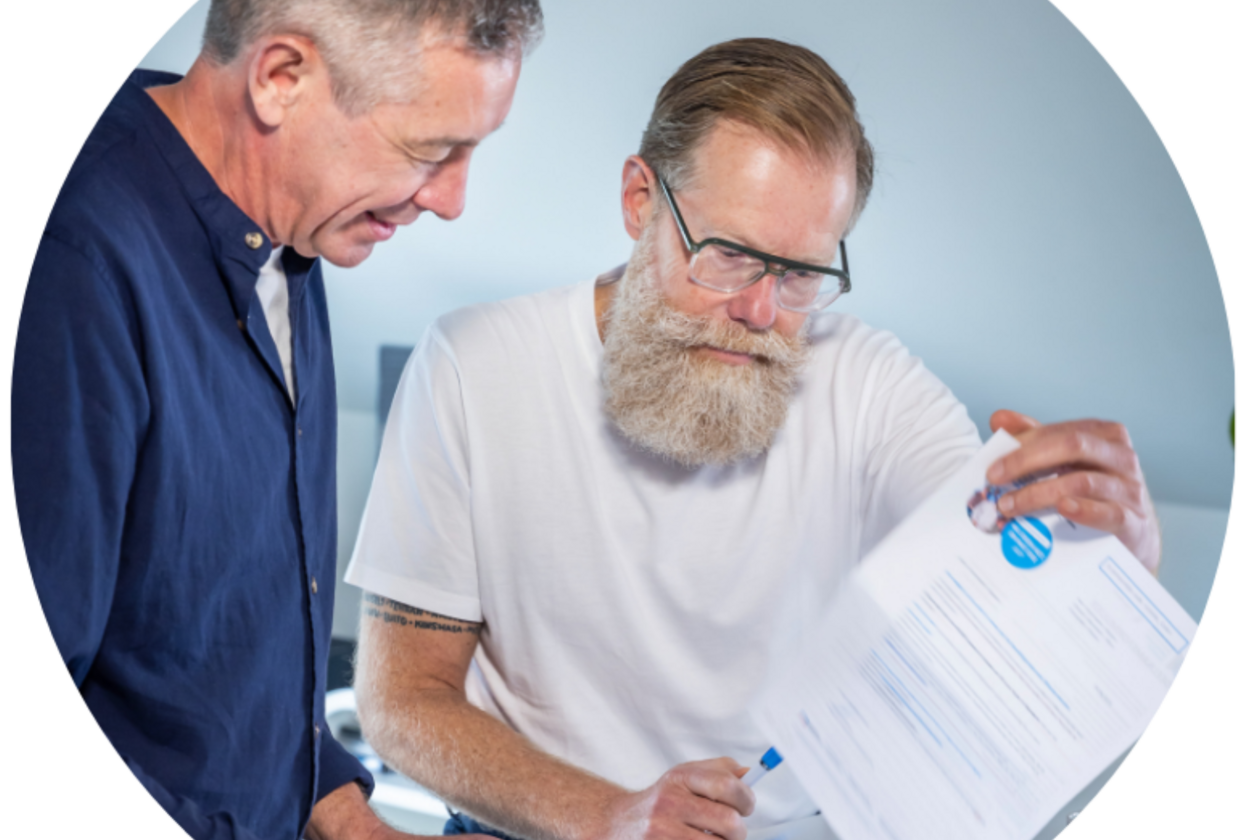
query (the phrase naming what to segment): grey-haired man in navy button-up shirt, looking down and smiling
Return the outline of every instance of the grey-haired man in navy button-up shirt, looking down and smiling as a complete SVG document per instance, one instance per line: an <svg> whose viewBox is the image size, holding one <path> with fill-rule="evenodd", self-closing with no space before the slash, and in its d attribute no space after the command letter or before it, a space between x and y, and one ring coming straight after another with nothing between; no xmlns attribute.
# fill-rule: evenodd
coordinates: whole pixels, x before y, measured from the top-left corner
<svg viewBox="0 0 1246 840"><path fill-rule="evenodd" d="M319 257L462 212L538 0L217 0L131 72L47 214L9 464L78 698L187 836L381 836L329 735L335 394Z"/></svg>

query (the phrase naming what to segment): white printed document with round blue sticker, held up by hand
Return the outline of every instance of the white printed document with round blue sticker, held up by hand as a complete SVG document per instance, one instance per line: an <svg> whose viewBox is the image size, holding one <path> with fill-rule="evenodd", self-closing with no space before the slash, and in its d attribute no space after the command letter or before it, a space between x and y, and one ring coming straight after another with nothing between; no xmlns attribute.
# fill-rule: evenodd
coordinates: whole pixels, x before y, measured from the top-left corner
<svg viewBox="0 0 1246 840"><path fill-rule="evenodd" d="M1115 537L1003 520L997 434L751 712L841 840L1030 840L1150 728L1199 627Z"/></svg>

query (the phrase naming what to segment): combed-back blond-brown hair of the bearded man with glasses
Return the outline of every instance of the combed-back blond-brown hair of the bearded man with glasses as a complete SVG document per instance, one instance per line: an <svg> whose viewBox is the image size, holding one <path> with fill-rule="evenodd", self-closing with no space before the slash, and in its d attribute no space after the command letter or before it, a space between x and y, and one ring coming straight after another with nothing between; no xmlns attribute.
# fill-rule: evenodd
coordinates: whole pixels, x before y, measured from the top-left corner
<svg viewBox="0 0 1246 840"><path fill-rule="evenodd" d="M653 106L639 155L674 189L693 176L693 156L723 120L743 123L817 160L852 155L856 222L873 186L873 148L852 91L816 52L795 44L745 37L689 59Z"/></svg>

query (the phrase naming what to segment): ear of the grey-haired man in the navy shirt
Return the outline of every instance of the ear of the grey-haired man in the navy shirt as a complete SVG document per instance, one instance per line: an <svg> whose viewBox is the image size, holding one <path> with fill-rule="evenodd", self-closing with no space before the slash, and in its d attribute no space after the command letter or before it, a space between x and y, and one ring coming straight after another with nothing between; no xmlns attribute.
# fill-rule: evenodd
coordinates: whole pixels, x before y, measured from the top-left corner
<svg viewBox="0 0 1246 840"><path fill-rule="evenodd" d="M329 70L305 37L274 35L259 40L247 69L247 92L259 121L275 128L290 110L315 93L330 92ZM316 91L318 87L324 91Z"/></svg>

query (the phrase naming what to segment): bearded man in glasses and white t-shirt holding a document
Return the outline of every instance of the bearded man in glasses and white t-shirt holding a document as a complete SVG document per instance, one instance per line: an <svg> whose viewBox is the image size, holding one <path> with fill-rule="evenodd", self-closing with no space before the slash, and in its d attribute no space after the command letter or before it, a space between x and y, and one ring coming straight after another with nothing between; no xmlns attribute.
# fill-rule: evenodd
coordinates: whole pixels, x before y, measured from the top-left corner
<svg viewBox="0 0 1246 840"><path fill-rule="evenodd" d="M447 831L744 840L814 813L746 714L868 548L981 446L893 335L824 312L873 160L844 81L746 39L688 61L623 166L625 269L440 319L394 400L346 580L356 690ZM1001 411L1011 515L1150 568L1124 430Z"/></svg>

